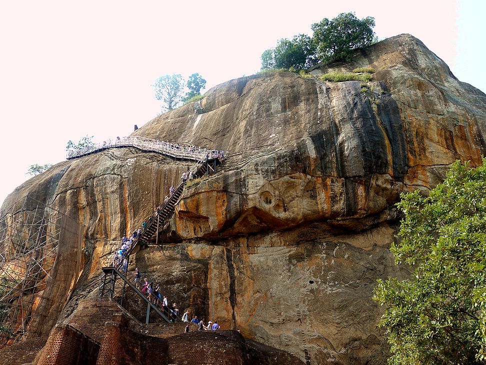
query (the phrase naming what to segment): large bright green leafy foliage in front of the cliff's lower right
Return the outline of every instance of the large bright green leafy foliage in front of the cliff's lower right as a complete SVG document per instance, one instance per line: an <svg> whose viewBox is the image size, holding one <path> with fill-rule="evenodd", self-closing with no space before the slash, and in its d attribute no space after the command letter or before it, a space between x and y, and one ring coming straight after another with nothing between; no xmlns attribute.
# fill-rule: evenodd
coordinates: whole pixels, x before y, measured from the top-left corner
<svg viewBox="0 0 486 365"><path fill-rule="evenodd" d="M380 326L390 364L484 364L486 351L486 167L456 161L428 197L402 195L398 265L409 278L378 280Z"/></svg>

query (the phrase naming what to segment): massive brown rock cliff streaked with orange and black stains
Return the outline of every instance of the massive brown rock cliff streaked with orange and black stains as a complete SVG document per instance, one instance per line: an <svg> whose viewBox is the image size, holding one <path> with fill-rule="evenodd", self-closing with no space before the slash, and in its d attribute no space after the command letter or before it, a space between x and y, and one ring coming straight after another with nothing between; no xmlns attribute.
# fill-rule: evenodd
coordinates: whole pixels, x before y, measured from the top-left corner
<svg viewBox="0 0 486 365"><path fill-rule="evenodd" d="M486 95L409 35L311 73L361 66L377 71L369 84L291 73L231 80L134 133L228 156L184 190L161 237L175 244L135 258L179 307L312 364L385 361L371 297L376 278L407 274L388 250L394 203L435 186L456 159L480 163ZM100 256L186 169L108 150L59 163L7 198L4 207L30 191L85 225L85 265L64 315L94 295Z"/></svg>

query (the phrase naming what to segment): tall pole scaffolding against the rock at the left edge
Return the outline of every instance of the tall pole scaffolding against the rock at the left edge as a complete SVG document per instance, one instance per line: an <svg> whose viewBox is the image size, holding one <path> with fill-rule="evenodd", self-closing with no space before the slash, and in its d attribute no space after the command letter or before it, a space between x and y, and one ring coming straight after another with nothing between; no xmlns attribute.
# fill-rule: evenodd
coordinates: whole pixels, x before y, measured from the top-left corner
<svg viewBox="0 0 486 365"><path fill-rule="evenodd" d="M0 348L54 325L79 272L81 227L29 195L3 209Z"/></svg>

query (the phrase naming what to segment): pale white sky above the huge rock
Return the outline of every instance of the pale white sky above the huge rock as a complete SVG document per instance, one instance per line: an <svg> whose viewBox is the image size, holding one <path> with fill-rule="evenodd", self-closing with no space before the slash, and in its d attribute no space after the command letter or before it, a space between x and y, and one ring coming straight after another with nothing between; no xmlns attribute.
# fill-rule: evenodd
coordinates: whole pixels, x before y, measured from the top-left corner
<svg viewBox="0 0 486 365"><path fill-rule="evenodd" d="M156 116L158 76L198 72L208 89L251 75L278 39L348 11L374 17L380 39L419 38L486 91L483 0L1 2L0 202L29 165L63 160L67 140L125 136Z"/></svg>

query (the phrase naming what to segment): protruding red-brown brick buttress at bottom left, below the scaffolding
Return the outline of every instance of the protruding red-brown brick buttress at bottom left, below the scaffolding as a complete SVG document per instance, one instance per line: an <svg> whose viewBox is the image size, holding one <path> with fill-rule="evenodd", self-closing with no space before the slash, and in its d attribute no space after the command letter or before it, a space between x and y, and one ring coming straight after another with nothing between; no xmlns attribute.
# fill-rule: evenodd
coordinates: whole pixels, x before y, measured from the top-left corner
<svg viewBox="0 0 486 365"><path fill-rule="evenodd" d="M95 365L98 351L98 342L65 324L52 329L35 365Z"/></svg>

